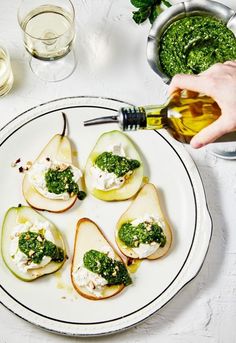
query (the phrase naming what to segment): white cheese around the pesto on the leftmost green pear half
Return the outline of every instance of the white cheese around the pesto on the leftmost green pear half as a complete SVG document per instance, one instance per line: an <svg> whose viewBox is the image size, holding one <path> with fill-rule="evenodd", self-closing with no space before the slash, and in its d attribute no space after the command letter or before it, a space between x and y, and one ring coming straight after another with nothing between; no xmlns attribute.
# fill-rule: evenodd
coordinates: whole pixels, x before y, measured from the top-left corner
<svg viewBox="0 0 236 343"><path fill-rule="evenodd" d="M31 223L29 221L25 222L24 224L17 225L12 232L11 235L11 245L10 245L10 254L11 257L16 264L17 268L22 272L27 274L27 271L30 269L38 269L46 266L50 261L51 257L44 256L40 263L33 263L30 262L27 255L25 255L18 247L19 244L19 236L23 232L32 231L32 232L39 232L39 230L44 231L44 237L55 243L54 237L51 232L51 224L48 221L36 221Z"/></svg>

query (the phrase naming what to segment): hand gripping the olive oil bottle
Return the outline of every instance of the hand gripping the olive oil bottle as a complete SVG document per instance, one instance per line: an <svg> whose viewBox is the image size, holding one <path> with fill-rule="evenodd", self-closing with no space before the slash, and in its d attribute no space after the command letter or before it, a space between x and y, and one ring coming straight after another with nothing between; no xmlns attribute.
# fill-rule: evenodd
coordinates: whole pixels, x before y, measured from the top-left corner
<svg viewBox="0 0 236 343"><path fill-rule="evenodd" d="M209 95L221 109L221 116L191 139L193 148L201 148L236 130L236 61L216 63L199 75L175 75L169 86L169 94L176 89Z"/></svg>

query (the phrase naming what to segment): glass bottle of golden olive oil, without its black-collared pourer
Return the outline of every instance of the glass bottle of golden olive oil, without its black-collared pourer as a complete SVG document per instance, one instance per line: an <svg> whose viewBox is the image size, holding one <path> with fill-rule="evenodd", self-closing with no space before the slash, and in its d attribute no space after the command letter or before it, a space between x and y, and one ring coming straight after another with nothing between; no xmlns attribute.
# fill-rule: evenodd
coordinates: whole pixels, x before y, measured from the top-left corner
<svg viewBox="0 0 236 343"><path fill-rule="evenodd" d="M178 141L189 143L221 114L217 103L206 95L182 90L174 92L163 106L146 106L146 129L166 128Z"/></svg>

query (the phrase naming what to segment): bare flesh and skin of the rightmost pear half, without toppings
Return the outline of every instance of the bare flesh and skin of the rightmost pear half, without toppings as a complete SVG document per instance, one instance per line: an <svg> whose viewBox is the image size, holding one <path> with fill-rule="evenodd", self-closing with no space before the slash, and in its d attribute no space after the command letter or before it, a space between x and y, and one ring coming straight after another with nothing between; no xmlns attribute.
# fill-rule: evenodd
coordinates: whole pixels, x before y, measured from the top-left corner
<svg viewBox="0 0 236 343"><path fill-rule="evenodd" d="M155 251L155 253L146 257L149 260L155 260L159 257L164 256L170 249L171 242L172 242L172 232L161 210L161 206L160 206L160 202L159 202L159 198L157 194L157 189L151 183L147 183L141 188L136 198L133 200L133 202L127 209L127 211L120 217L116 225L116 232L115 232L116 243L120 251L124 255L131 258L139 258L132 248L127 247L125 243L119 239L118 231L124 223L132 222L134 219L143 217L145 214L153 215L154 217L159 218L164 223L164 227L162 229L166 236L165 246L163 248L159 247Z"/></svg>

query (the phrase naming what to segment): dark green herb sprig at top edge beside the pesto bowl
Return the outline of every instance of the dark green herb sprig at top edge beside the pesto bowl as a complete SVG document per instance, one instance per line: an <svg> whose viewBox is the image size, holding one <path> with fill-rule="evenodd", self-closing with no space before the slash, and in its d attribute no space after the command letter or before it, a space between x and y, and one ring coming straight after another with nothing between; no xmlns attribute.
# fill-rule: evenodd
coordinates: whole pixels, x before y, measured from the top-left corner
<svg viewBox="0 0 236 343"><path fill-rule="evenodd" d="M133 19L137 24L143 23L146 19L149 19L152 24L161 13L161 4L166 7L171 6L168 0L130 0L130 2L134 7L138 8L137 11L133 12Z"/></svg>

